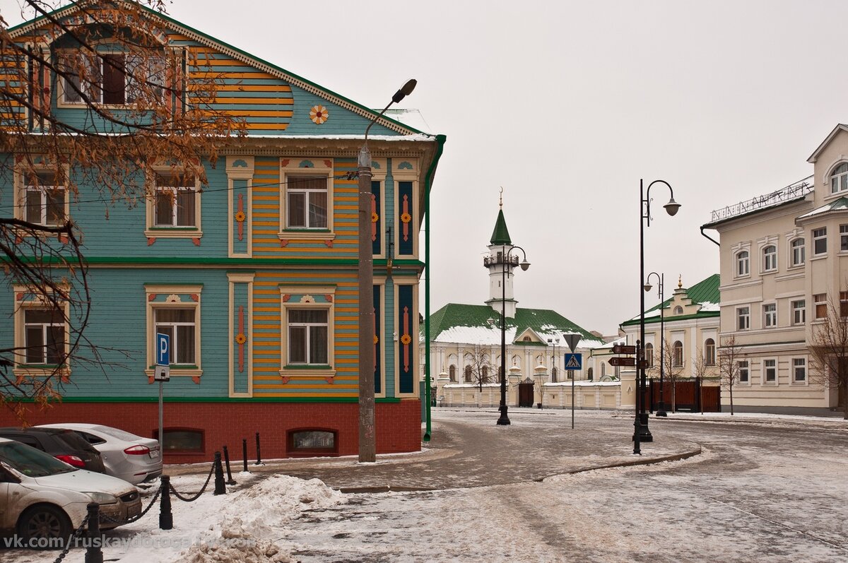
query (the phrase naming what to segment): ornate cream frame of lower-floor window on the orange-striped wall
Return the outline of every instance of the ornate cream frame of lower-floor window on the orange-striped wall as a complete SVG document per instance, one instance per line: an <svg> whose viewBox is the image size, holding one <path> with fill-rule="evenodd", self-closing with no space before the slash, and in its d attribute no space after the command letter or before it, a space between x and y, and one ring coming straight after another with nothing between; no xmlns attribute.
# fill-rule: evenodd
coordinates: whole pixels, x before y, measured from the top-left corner
<svg viewBox="0 0 848 563"><path fill-rule="evenodd" d="M301 297L295 301L293 298L287 298L289 295ZM325 301L316 301L315 295L324 295L328 298ZM335 297L335 286L280 286L280 376L312 379L328 379L336 376ZM293 309L326 310L326 365L289 363L288 312Z"/></svg>

